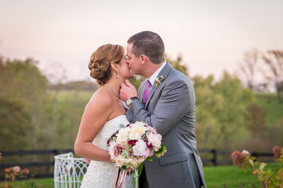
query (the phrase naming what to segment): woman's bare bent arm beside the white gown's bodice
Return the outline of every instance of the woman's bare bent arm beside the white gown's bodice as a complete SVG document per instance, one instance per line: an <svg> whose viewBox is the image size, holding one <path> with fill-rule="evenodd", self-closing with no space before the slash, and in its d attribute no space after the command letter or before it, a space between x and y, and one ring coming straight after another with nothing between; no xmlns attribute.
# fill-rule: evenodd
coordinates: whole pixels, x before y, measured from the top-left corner
<svg viewBox="0 0 283 188"><path fill-rule="evenodd" d="M107 95L102 96L103 98L93 97L86 105L74 150L75 154L80 157L95 161L111 162L106 150L92 144L93 139L113 112L111 97Z"/></svg>

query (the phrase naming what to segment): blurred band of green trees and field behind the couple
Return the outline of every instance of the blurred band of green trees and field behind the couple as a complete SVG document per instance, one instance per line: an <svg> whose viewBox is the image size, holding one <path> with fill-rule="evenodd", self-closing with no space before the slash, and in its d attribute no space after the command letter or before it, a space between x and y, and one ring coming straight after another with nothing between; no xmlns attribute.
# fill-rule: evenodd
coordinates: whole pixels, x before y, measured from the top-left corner
<svg viewBox="0 0 283 188"><path fill-rule="evenodd" d="M274 61L280 56L267 54L263 58L269 64L272 54ZM266 83L274 83L276 93L267 93L262 89L266 83L245 84L226 71L218 80L213 75L190 76L182 56L165 57L194 84L198 148L270 152L283 145L282 80L275 83L272 71ZM37 63L32 58L0 58L1 150L73 148L85 105L99 88L94 80L63 82L63 73L51 83L54 75L42 73ZM144 79L136 75L130 81L138 89Z"/></svg>

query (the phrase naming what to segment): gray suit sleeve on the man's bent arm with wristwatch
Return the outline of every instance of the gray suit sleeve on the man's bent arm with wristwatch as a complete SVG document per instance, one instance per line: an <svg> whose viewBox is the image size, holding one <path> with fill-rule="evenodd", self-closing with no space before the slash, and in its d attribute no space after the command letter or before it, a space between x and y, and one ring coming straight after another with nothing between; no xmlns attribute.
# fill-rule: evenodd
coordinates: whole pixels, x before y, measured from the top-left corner
<svg viewBox="0 0 283 188"><path fill-rule="evenodd" d="M150 114L138 100L130 106L136 121L143 121L165 135L190 109L190 93L184 80L176 80L164 86L153 114Z"/></svg>

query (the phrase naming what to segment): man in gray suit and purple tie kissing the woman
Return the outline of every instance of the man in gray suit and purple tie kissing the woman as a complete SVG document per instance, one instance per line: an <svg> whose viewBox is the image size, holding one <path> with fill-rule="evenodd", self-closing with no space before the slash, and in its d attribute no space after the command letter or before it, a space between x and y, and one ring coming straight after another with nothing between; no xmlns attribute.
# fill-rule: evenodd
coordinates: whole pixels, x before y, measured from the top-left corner
<svg viewBox="0 0 283 188"><path fill-rule="evenodd" d="M157 33L142 31L127 43L126 63L133 74L147 78L139 92L129 80L121 84L120 98L129 106L127 118L130 123L143 121L154 127L167 147L164 157L144 161L139 188L206 188L196 148L192 83L165 61L164 43Z"/></svg>

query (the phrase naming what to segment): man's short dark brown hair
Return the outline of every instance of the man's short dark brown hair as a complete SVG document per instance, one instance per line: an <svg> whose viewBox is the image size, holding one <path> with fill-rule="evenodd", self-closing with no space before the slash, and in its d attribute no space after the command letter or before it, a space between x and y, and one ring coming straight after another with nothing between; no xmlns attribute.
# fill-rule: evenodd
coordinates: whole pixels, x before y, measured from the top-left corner
<svg viewBox="0 0 283 188"><path fill-rule="evenodd" d="M131 36L127 43L133 44L132 53L136 58L144 54L152 63L159 64L165 61L164 43L157 33L141 31Z"/></svg>

